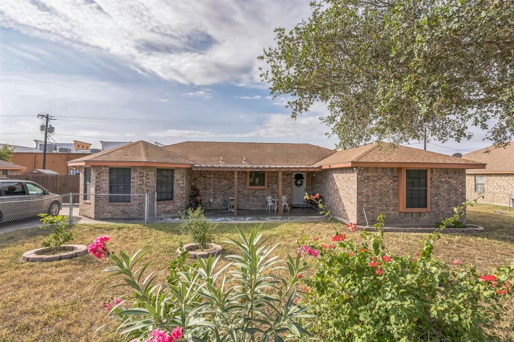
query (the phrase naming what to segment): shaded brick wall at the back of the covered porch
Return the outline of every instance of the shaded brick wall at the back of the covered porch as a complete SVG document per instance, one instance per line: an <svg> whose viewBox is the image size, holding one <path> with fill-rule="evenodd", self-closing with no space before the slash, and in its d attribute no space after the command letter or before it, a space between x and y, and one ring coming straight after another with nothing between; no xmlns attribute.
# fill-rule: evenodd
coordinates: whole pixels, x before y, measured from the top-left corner
<svg viewBox="0 0 514 342"><path fill-rule="evenodd" d="M265 209L266 196L278 195L278 171L268 171L268 187L266 189L247 189L247 172L237 172L237 208ZM206 209L225 209L229 196L234 196L233 171L193 170L191 184L196 186L200 195L202 207ZM282 173L282 195L287 196L291 203L292 176L289 172ZM212 199L212 200L211 200Z"/></svg>

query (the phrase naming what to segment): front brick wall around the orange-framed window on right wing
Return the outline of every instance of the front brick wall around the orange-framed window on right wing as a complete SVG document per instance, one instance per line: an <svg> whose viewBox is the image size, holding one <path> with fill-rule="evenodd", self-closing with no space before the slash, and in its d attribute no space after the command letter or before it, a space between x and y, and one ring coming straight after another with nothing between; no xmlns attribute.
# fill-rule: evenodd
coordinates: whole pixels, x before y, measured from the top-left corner
<svg viewBox="0 0 514 342"><path fill-rule="evenodd" d="M365 208L370 224L383 213L389 225L433 225L454 215L453 207L466 199L464 169L432 168L430 172L430 212L400 213L398 211L397 168L358 168L357 223L365 224Z"/></svg>

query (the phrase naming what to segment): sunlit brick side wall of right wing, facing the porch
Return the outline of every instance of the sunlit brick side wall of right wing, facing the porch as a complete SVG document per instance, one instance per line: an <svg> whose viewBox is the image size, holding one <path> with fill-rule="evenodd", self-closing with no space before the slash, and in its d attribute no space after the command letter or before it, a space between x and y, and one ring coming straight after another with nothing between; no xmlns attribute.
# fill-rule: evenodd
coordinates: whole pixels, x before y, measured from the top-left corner
<svg viewBox="0 0 514 342"><path fill-rule="evenodd" d="M324 169L311 177L311 192L325 198L331 214L346 221L357 220L357 173L353 168Z"/></svg>

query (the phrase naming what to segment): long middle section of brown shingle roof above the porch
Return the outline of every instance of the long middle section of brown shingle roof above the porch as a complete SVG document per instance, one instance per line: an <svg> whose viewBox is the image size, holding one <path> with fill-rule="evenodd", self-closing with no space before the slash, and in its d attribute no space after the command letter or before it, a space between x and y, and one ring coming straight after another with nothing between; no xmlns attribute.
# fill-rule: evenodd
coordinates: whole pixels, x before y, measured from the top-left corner
<svg viewBox="0 0 514 342"><path fill-rule="evenodd" d="M291 143L186 141L162 148L197 165L209 166L305 167L334 153L321 146Z"/></svg>

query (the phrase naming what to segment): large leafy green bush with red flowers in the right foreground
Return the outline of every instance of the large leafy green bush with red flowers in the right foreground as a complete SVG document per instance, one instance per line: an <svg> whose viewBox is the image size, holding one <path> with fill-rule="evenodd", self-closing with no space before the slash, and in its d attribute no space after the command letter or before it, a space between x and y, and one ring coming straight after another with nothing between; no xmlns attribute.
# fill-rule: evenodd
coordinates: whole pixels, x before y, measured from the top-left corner
<svg viewBox="0 0 514 342"><path fill-rule="evenodd" d="M455 212L442 229L458 220L463 207ZM317 315L311 332L325 341L493 339L484 329L506 313L514 263L483 276L460 260L450 268L432 255L441 229L416 255L396 255L384 243L383 220L380 215L377 232L360 232L358 240L335 227L331 248L323 241L303 242L303 250L319 253L311 262L314 274L305 279L305 305ZM356 230L352 223L347 227Z"/></svg>

